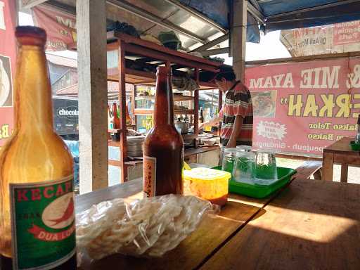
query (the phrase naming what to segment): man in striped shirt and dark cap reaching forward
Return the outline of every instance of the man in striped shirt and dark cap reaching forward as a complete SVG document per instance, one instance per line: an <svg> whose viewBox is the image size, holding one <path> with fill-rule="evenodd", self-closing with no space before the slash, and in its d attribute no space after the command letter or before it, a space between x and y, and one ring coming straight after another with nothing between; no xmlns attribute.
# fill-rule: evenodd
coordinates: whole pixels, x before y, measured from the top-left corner
<svg viewBox="0 0 360 270"><path fill-rule="evenodd" d="M221 65L213 80L225 94L225 102L219 115L200 124L199 129L222 122L220 137L223 146L252 146L252 99L249 89L236 80L229 65Z"/></svg>

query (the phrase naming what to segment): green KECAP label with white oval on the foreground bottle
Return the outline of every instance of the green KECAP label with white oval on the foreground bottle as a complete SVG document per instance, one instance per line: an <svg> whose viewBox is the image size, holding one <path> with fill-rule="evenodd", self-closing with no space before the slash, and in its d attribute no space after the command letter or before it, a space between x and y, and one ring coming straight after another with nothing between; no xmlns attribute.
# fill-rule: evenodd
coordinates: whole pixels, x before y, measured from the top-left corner
<svg viewBox="0 0 360 270"><path fill-rule="evenodd" d="M14 269L51 269L75 254L73 176L10 184Z"/></svg>

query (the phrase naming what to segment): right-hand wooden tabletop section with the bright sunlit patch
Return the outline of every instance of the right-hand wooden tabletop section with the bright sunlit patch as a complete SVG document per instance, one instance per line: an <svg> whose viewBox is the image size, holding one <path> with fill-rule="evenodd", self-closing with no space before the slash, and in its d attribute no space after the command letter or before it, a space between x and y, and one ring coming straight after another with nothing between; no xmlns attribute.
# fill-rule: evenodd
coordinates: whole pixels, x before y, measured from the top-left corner
<svg viewBox="0 0 360 270"><path fill-rule="evenodd" d="M296 179L201 267L360 269L360 185Z"/></svg>

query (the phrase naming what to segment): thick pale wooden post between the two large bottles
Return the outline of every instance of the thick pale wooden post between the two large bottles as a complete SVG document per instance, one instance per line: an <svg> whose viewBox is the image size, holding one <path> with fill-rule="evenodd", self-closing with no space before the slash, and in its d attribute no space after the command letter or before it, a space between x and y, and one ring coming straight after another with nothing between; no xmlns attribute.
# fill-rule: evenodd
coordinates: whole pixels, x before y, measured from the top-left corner
<svg viewBox="0 0 360 270"><path fill-rule="evenodd" d="M80 193L108 187L105 0L77 0Z"/></svg>

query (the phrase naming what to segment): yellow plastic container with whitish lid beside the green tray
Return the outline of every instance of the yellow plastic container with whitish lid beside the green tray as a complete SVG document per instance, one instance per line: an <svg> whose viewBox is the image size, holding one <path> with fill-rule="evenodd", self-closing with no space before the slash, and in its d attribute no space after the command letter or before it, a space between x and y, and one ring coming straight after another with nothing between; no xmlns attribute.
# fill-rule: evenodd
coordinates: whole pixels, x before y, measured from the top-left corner
<svg viewBox="0 0 360 270"><path fill-rule="evenodd" d="M229 172L217 169L195 168L184 171L184 193L225 205L229 193Z"/></svg>

